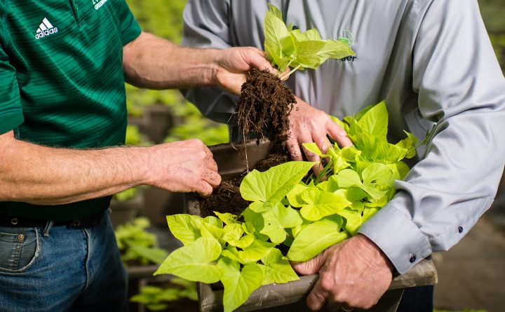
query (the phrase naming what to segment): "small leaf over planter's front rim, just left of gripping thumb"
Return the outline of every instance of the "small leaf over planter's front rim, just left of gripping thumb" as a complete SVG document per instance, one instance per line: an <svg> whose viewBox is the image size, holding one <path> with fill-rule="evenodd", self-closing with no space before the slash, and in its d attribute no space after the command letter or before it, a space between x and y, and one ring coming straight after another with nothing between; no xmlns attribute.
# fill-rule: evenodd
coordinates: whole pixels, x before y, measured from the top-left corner
<svg viewBox="0 0 505 312"><path fill-rule="evenodd" d="M281 250L273 248L267 257L262 259L263 283L288 283L292 280L299 280L297 273L292 269L289 261L285 259Z"/></svg>

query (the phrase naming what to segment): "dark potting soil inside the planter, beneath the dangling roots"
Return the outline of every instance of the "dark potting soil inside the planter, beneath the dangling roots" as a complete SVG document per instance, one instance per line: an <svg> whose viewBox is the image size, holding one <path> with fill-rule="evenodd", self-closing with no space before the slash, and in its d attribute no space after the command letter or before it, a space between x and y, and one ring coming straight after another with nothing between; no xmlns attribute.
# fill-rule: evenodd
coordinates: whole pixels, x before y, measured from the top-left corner
<svg viewBox="0 0 505 312"><path fill-rule="evenodd" d="M277 151L259 161L253 169L264 172L286 161L288 161L287 154ZM245 201L240 194L240 184L247 173L243 172L241 175L223 180L210 197L201 199L199 201L201 217L215 216L214 211L241 215L249 205L249 202Z"/></svg>

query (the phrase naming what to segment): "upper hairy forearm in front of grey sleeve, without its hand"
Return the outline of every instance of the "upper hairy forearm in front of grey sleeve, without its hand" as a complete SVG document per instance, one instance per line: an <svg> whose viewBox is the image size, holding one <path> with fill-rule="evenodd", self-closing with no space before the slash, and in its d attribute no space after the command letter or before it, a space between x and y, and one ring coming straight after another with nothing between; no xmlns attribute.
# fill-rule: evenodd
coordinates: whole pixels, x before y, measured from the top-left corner
<svg viewBox="0 0 505 312"><path fill-rule="evenodd" d="M152 89L215 85L216 53L177 46L142 33L123 48L125 79L134 86Z"/></svg>

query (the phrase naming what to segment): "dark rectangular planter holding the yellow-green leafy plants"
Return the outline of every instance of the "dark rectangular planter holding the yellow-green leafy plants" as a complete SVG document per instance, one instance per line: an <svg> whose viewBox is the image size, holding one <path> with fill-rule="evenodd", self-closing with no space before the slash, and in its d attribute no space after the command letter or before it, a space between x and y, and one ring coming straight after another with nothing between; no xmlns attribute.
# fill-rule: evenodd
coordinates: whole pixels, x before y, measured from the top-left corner
<svg viewBox="0 0 505 312"><path fill-rule="evenodd" d="M218 144L210 147L214 159L223 179L240 175L248 167L252 168L258 161L269 156L271 142L269 140L256 140L246 144L245 150L239 144ZM191 215L200 215L198 198L188 195L184 203L187 212ZM370 272L373 274L373 272ZM318 280L318 275L300 276L284 284L264 285L255 290L250 297L236 311L272 311L292 312L310 311L305 304L307 295ZM408 287L435 285L437 283L436 268L431 259L418 262L408 272L396 276L389 285L389 290L379 302L370 308L370 312L394 312L403 294ZM223 290L215 290L208 284L197 283L198 306L201 312L223 311ZM354 309L354 311L363 311Z"/></svg>

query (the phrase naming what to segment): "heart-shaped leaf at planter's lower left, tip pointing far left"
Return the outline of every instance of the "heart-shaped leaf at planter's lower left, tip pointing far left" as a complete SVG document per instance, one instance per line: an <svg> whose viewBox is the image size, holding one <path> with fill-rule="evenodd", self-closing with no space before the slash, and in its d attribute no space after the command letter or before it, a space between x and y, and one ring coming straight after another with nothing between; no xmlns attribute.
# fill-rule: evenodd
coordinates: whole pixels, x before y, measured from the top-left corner
<svg viewBox="0 0 505 312"><path fill-rule="evenodd" d="M221 251L221 244L217 240L197 238L168 255L154 275L173 274L194 282L216 283L223 272L212 262L220 257Z"/></svg>

